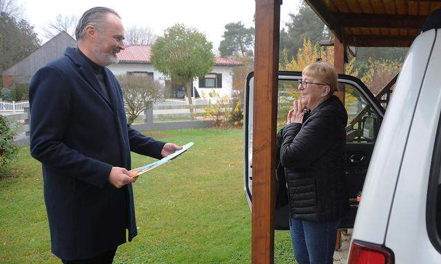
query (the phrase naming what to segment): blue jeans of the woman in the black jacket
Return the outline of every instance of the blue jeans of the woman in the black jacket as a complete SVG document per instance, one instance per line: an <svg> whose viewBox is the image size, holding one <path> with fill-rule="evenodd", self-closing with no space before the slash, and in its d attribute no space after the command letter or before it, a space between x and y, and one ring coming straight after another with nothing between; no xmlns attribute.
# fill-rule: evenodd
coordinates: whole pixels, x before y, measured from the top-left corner
<svg viewBox="0 0 441 264"><path fill-rule="evenodd" d="M298 264L332 264L340 221L312 222L289 219L294 258Z"/></svg>

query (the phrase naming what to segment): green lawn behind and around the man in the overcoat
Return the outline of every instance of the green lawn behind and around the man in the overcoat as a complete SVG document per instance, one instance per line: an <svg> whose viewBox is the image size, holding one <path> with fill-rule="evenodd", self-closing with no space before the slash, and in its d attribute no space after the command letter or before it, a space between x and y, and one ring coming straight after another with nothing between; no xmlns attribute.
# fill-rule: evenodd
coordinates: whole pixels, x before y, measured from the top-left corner
<svg viewBox="0 0 441 264"><path fill-rule="evenodd" d="M251 214L243 195L243 131L147 134L195 145L134 184L139 234L114 263L250 263ZM152 159L132 155L132 166ZM0 180L0 263L61 263L50 252L41 165L22 148ZM276 263L292 263L289 232L276 232Z"/></svg>

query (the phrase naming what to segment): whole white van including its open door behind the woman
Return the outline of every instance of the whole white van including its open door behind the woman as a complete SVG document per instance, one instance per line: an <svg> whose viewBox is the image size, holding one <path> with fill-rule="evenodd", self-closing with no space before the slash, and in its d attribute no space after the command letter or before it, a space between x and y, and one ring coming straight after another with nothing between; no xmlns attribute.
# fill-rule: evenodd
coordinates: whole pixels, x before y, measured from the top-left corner
<svg viewBox="0 0 441 264"><path fill-rule="evenodd" d="M352 228L356 217L350 264L441 263L441 10L429 21L411 45L386 113L358 78L338 76L349 115L351 203L340 227ZM280 125L300 78L300 72L279 72ZM250 208L253 80L249 74L244 122L244 189ZM284 185L277 179L278 199ZM289 229L287 206L277 207L274 217L274 228Z"/></svg>

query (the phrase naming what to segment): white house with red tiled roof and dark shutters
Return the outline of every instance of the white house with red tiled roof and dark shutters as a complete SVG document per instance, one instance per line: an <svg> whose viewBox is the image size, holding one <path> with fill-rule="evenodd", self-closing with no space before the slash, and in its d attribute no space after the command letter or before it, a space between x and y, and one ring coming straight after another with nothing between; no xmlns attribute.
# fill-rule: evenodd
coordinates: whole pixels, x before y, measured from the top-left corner
<svg viewBox="0 0 441 264"><path fill-rule="evenodd" d="M158 72L150 61L149 45L127 45L125 50L117 54L119 63L109 65L108 68L115 74L141 74L151 76L165 85L165 96L169 98L184 98L185 84L173 83L161 72ZM196 78L193 81L192 96L207 97L211 91L220 96L230 96L232 91L233 67L242 63L226 58L215 57L212 72L205 78Z"/></svg>

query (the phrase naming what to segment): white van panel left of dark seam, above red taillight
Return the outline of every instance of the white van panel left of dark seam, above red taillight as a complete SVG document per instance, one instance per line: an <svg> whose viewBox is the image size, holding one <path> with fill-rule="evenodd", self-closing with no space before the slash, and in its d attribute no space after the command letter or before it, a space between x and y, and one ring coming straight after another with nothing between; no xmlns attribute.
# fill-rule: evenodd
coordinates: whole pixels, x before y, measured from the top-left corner
<svg viewBox="0 0 441 264"><path fill-rule="evenodd" d="M404 61L373 150L352 239L384 243L402 156L434 40L434 30L420 34Z"/></svg>

